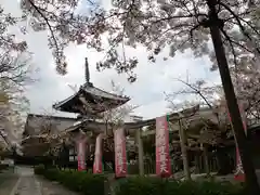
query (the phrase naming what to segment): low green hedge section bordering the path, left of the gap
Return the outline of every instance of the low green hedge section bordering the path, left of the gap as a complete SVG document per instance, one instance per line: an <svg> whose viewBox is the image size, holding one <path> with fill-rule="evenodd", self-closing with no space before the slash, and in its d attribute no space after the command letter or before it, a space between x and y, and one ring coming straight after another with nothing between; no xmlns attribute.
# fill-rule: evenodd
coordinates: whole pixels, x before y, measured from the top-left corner
<svg viewBox="0 0 260 195"><path fill-rule="evenodd" d="M35 168L35 173L41 174L51 181L57 181L67 188L84 195L103 195L105 178L102 174L91 174L72 170Z"/></svg>

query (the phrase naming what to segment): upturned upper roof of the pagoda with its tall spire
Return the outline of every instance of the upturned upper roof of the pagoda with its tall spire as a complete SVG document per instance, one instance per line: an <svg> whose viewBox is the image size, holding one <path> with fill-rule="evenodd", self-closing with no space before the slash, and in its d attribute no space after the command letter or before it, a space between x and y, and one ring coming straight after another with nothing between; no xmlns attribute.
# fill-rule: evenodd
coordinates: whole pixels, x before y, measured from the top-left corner
<svg viewBox="0 0 260 195"><path fill-rule="evenodd" d="M114 108L127 103L128 96L108 93L93 86L89 79L89 65L86 58L86 83L72 96L53 105L61 112L95 115L105 112L107 107ZM88 106L86 106L86 104ZM84 109L82 109L84 106Z"/></svg>

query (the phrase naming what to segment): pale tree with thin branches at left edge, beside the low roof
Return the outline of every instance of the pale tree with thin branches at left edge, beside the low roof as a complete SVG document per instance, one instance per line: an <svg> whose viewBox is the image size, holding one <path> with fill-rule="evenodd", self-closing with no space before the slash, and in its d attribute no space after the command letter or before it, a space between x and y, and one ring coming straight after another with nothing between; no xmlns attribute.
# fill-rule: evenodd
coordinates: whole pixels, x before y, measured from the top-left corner
<svg viewBox="0 0 260 195"><path fill-rule="evenodd" d="M1 53L0 50L0 120L12 139L18 139L23 131L23 118L29 107L25 91L27 84L34 82L32 72L27 53Z"/></svg>

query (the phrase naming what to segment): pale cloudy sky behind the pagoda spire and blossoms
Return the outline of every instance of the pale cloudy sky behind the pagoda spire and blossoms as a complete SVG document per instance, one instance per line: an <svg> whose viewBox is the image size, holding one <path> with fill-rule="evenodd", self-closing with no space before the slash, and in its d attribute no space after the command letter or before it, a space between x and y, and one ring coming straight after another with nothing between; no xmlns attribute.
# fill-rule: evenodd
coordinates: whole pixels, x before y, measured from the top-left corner
<svg viewBox="0 0 260 195"><path fill-rule="evenodd" d="M83 0L82 0L83 1ZM5 10L20 15L20 6L15 1L2 0ZM107 6L107 0L105 6ZM82 3L80 11L86 6ZM89 58L91 81L95 87L110 91L110 80L120 84L126 90L126 95L131 96L131 104L140 105L135 115L144 118L160 116L169 112L165 102L164 92L177 91L183 86L176 82L172 78L186 78L188 73L191 80L205 79L209 82L219 82L218 72L210 73L210 62L207 57L194 58L190 52L178 54L173 58L162 61L158 58L155 64L147 61L145 49L127 49L127 53L138 56L140 64L135 69L138 80L130 84L126 75L117 75L113 69L98 73L95 63L104 57L104 54L87 50L86 46L70 46L66 49L68 58L68 74L58 76L55 73L51 51L48 49L46 31L22 35L17 29L13 29L20 38L26 39L29 50L34 53L32 64L39 68L37 77L39 81L28 88L27 95L30 100L30 113L52 113L68 116L63 113L54 113L51 109L53 103L62 101L72 95L74 91L68 84L78 87L84 82L84 57Z"/></svg>

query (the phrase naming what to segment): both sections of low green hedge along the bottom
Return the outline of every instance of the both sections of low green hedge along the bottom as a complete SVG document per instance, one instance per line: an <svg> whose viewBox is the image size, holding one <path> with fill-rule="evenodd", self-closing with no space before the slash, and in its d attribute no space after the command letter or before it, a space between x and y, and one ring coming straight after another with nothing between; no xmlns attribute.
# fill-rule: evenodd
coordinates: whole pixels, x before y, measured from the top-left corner
<svg viewBox="0 0 260 195"><path fill-rule="evenodd" d="M72 191L84 195L104 195L105 177L78 171L61 171L44 169L39 166L35 169L52 181L58 181ZM178 182L159 178L132 177L119 179L110 183L114 195L243 195L239 184L214 181Z"/></svg>

